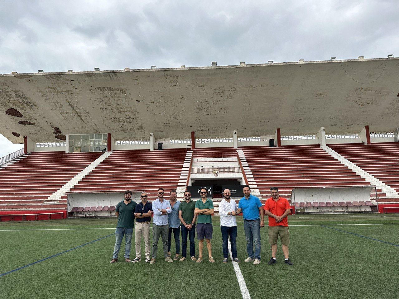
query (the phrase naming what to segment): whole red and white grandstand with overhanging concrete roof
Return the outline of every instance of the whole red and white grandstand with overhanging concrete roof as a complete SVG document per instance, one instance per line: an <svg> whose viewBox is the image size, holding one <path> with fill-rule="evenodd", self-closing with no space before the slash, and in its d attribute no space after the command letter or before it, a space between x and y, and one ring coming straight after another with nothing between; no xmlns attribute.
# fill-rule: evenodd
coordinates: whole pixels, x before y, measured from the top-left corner
<svg viewBox="0 0 399 299"><path fill-rule="evenodd" d="M181 197L201 184L216 211L222 186L248 184L262 201L279 187L297 212L334 198L291 199L296 188L374 187L336 211L395 212L398 67L359 57L0 75L0 133L24 144L1 160L0 220L109 216L126 189L153 200L158 187Z"/></svg>

